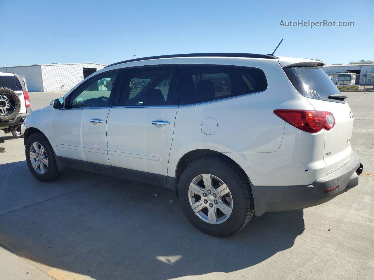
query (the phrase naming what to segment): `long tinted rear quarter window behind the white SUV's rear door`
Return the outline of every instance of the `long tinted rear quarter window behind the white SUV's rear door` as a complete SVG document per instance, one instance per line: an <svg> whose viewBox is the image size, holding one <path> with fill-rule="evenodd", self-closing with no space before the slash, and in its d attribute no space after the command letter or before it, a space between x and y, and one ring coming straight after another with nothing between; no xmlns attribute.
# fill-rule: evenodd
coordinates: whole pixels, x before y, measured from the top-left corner
<svg viewBox="0 0 374 280"><path fill-rule="evenodd" d="M221 65L178 65L180 105L207 102L263 91L264 72L258 68Z"/></svg>

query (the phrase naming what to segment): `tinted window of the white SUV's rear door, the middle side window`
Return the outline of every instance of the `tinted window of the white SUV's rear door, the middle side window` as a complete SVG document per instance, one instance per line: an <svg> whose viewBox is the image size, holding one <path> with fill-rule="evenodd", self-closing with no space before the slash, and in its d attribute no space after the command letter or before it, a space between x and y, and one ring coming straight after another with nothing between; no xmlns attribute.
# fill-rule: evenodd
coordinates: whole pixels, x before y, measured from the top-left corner
<svg viewBox="0 0 374 280"><path fill-rule="evenodd" d="M175 105L171 74L172 66L128 69L119 106Z"/></svg>

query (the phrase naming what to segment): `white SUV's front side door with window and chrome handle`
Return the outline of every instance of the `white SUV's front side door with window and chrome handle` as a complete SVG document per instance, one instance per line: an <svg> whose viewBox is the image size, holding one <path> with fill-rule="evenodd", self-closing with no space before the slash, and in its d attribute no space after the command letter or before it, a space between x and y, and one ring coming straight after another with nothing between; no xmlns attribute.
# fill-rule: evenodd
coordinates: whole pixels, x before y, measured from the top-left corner
<svg viewBox="0 0 374 280"><path fill-rule="evenodd" d="M73 91L67 108L56 112L53 127L62 160L109 165L106 124L118 74L111 71L90 78Z"/></svg>

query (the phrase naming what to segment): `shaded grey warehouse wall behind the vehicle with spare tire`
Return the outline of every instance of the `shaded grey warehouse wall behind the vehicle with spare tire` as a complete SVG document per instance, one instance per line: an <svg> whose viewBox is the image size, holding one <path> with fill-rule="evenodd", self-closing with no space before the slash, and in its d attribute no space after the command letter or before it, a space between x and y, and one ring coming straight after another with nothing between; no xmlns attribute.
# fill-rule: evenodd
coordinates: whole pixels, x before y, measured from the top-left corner
<svg viewBox="0 0 374 280"><path fill-rule="evenodd" d="M25 76L29 91L43 91L42 69L40 65L3 67L0 68L0 72L16 73Z"/></svg>

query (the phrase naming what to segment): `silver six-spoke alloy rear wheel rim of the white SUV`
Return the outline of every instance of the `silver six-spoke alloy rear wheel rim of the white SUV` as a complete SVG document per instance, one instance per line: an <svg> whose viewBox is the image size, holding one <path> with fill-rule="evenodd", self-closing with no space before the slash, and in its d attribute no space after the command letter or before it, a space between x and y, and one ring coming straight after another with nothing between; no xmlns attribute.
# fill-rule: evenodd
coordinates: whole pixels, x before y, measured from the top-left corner
<svg viewBox="0 0 374 280"><path fill-rule="evenodd" d="M229 187L212 174L194 178L188 189L188 198L194 213L206 223L220 224L231 215L233 199Z"/></svg>

